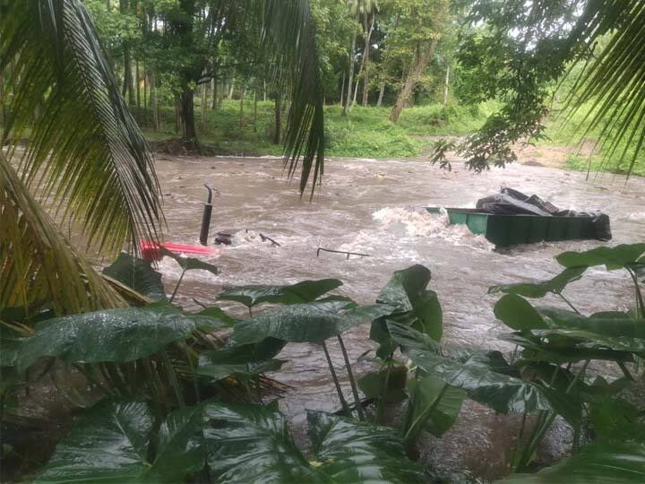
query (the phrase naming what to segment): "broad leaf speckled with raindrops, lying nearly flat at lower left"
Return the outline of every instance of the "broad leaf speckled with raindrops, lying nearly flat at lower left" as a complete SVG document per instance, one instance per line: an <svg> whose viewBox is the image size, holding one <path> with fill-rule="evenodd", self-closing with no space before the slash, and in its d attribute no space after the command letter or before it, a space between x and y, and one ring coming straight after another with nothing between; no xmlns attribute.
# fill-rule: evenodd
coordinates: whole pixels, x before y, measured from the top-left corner
<svg viewBox="0 0 645 484"><path fill-rule="evenodd" d="M198 324L163 304L58 317L36 326L36 334L22 345L17 367L22 371L46 356L82 363L141 359L185 340Z"/></svg>

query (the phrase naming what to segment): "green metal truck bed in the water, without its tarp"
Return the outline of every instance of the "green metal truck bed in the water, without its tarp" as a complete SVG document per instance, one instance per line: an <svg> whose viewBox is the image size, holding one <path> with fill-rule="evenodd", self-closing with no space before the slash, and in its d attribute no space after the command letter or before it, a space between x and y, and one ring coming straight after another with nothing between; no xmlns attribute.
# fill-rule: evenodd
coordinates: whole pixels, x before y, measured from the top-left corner
<svg viewBox="0 0 645 484"><path fill-rule="evenodd" d="M426 210L441 213L439 207L426 207ZM462 208L448 208L446 211L451 224L467 225L472 233L481 234L500 247L596 238L596 229L590 217L494 215Z"/></svg>

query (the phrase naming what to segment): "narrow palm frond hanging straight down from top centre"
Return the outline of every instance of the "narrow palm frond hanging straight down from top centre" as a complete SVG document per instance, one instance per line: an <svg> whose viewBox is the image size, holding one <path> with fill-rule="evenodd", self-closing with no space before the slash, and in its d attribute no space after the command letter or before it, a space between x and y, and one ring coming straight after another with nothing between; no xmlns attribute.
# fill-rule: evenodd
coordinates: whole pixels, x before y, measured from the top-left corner
<svg viewBox="0 0 645 484"><path fill-rule="evenodd" d="M262 39L272 64L291 76L291 108L285 136L285 164L293 177L302 156L300 193L324 172L323 88L315 26L308 0L264 0ZM313 174L312 174L313 170Z"/></svg>

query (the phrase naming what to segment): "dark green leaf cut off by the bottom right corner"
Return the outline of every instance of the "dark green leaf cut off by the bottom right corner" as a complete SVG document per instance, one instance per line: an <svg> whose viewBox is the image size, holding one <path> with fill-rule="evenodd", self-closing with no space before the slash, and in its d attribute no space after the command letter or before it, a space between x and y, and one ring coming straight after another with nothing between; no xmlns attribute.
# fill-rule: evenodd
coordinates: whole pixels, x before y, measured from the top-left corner
<svg viewBox="0 0 645 484"><path fill-rule="evenodd" d="M645 445L595 442L537 474L518 474L503 484L641 484L645 482Z"/></svg>

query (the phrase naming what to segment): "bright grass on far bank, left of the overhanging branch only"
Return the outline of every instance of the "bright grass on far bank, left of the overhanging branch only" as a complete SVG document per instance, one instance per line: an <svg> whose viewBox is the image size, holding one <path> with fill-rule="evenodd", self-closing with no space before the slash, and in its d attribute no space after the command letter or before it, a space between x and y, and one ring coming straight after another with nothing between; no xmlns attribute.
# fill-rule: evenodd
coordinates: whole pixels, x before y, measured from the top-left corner
<svg viewBox="0 0 645 484"><path fill-rule="evenodd" d="M334 157L409 158L415 157L428 141L426 136L460 136L467 134L486 119L491 104L480 108L451 108L447 121L443 106L431 104L403 110L400 122L390 121L391 108L355 106L348 116L338 105L325 108L326 154ZM230 154L280 155L280 145L271 143L273 134L273 101L258 102L257 119L253 101L246 100L240 117L239 100L225 100L221 108L208 109L200 141L216 151ZM200 125L200 107L195 107L196 123ZM150 131L142 113L137 115L144 133L154 141L176 137L175 114L172 108L161 108L162 129Z"/></svg>

